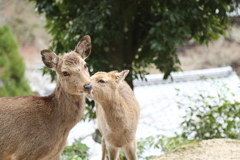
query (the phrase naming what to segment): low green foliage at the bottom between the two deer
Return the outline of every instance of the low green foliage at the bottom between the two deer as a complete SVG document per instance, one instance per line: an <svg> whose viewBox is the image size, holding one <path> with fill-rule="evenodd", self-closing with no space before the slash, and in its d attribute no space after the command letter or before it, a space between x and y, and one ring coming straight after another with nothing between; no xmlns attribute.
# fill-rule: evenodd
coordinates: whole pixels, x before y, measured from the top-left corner
<svg viewBox="0 0 240 160"><path fill-rule="evenodd" d="M83 144L79 138L72 145L65 147L61 159L62 160L87 160L89 157L89 147Z"/></svg>

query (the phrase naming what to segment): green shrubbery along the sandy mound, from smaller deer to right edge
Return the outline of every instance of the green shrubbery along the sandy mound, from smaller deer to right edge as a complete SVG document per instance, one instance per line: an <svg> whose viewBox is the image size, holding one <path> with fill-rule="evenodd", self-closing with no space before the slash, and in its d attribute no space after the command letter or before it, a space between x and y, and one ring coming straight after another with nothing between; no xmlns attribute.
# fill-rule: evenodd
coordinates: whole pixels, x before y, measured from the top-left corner
<svg viewBox="0 0 240 160"><path fill-rule="evenodd" d="M175 133L174 137L156 135L140 139L138 157L148 160L200 140L240 139L239 97L224 83L213 81L212 86L216 87L216 92L201 89L191 96L176 89L177 104L186 111L181 123L182 133ZM159 155L146 154L151 149L157 149Z"/></svg>

